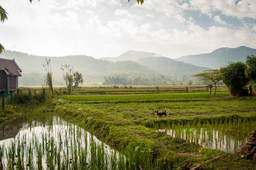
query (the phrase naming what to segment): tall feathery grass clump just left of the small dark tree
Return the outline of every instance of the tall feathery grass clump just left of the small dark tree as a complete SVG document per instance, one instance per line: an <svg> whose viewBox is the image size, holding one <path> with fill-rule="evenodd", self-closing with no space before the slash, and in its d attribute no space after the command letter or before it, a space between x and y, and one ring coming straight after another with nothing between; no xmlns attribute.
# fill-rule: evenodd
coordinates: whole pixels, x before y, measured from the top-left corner
<svg viewBox="0 0 256 170"><path fill-rule="evenodd" d="M62 70L62 75L68 89L68 94L71 94L71 88L74 82L73 80L74 69L69 64L63 64L63 65L61 64L60 70Z"/></svg>

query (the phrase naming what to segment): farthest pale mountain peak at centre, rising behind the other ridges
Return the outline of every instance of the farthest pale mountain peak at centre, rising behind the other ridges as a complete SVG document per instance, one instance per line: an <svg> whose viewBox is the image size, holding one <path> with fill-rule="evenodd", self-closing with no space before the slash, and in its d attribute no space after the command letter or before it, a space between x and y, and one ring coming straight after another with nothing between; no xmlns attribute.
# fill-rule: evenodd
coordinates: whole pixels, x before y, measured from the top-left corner
<svg viewBox="0 0 256 170"><path fill-rule="evenodd" d="M104 57L101 58L102 60L107 60L111 62L116 62L116 61L137 61L140 60L141 58L146 58L146 57L158 57L161 56L156 53L148 53L148 52L137 52L133 50L129 50L128 52L118 56L118 57Z"/></svg>

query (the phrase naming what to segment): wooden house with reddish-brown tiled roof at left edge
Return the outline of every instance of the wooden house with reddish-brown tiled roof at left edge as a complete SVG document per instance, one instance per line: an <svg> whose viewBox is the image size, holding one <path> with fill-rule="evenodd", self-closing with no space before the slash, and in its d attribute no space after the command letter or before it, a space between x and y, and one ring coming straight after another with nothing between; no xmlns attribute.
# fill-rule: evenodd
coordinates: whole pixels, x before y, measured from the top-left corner
<svg viewBox="0 0 256 170"><path fill-rule="evenodd" d="M0 58L0 92L9 93L18 88L22 70L15 60Z"/></svg>

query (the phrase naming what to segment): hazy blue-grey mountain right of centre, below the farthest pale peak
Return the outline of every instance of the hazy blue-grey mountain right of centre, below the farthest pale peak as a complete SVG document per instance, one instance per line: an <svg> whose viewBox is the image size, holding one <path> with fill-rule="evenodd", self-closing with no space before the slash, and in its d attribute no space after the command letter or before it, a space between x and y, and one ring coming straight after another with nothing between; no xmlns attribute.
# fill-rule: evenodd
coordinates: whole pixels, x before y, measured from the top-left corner
<svg viewBox="0 0 256 170"><path fill-rule="evenodd" d="M175 61L167 57L141 58L137 62L169 77L189 78L193 74L209 70L207 67Z"/></svg>

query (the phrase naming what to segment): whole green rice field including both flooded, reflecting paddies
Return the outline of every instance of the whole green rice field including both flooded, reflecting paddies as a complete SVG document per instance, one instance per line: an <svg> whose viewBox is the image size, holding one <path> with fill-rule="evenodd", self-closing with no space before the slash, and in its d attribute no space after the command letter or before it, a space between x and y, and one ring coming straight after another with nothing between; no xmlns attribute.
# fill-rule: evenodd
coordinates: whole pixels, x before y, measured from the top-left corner
<svg viewBox="0 0 256 170"><path fill-rule="evenodd" d="M155 90L83 87L55 96L22 113L19 125L3 124L2 168L256 169L235 153L256 129L255 97L231 97L225 86L216 95L203 86ZM157 119L164 108L166 119Z"/></svg>

